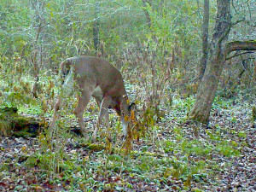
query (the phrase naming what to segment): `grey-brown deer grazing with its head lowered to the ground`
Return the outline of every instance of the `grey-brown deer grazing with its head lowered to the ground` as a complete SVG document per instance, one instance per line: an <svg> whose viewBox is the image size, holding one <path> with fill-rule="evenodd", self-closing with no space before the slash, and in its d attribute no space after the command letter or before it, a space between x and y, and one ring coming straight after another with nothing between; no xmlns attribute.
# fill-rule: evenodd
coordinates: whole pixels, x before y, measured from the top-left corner
<svg viewBox="0 0 256 192"><path fill-rule="evenodd" d="M132 102L131 105L128 105L124 80L117 68L113 67L105 59L82 55L62 61L60 72L61 86L70 84L67 79L69 74L73 73L73 80L75 82L73 89L79 90L78 104L73 110L73 113L78 119L80 132L86 140L89 140L90 137L85 129L83 114L91 97L96 99L96 103L100 108L96 128L92 135L92 142L96 142L97 132L102 124L103 118L105 118L106 126L109 127L108 108L113 108L119 114L124 137L127 137L127 127L129 124L129 120L127 119L129 118L126 117L130 117L131 111L136 110L136 104ZM52 121L49 125L51 132L55 129L55 122L58 116L57 112L60 106L61 97L59 96L55 103Z"/></svg>

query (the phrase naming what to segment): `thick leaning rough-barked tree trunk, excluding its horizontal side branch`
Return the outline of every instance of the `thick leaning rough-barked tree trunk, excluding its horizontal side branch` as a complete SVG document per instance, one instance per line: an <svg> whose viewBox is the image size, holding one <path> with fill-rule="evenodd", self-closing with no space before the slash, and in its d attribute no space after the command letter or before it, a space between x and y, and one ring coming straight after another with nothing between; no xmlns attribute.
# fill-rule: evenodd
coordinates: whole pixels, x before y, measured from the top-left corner
<svg viewBox="0 0 256 192"><path fill-rule="evenodd" d="M219 77L225 61L225 42L230 33L230 0L217 1L217 20L212 35L212 43L206 72L201 80L191 119L207 123L212 108L212 102L218 88Z"/></svg>

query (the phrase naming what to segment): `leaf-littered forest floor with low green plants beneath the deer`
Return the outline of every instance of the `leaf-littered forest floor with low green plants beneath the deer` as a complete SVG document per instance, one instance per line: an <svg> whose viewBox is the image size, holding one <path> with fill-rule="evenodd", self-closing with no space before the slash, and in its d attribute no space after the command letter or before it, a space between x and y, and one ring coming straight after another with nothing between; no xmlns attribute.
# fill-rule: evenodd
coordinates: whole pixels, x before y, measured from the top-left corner
<svg viewBox="0 0 256 192"><path fill-rule="evenodd" d="M165 116L149 115L145 135L135 139L128 152L122 149L114 113L110 115L112 143L106 142L105 130L99 132L95 145L65 128L58 129L52 139L44 133L28 139L1 137L0 190L256 190L255 99L252 92L217 98L210 124L205 126L187 119L194 97L175 95L172 106L160 108ZM91 135L97 109L95 103L88 108L84 120ZM21 110L29 113L24 106ZM143 110L139 113L143 119ZM73 115L61 115L60 127L75 124Z"/></svg>

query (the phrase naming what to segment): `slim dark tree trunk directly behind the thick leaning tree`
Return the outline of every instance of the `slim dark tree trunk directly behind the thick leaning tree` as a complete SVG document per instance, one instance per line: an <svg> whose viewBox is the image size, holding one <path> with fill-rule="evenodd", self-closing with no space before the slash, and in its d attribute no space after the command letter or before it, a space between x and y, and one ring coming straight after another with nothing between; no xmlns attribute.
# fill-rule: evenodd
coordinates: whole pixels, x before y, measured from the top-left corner
<svg viewBox="0 0 256 192"><path fill-rule="evenodd" d="M202 79L207 66L208 57L208 28L209 28L209 0L204 1L204 17L202 24L202 55L199 68L199 78Z"/></svg>

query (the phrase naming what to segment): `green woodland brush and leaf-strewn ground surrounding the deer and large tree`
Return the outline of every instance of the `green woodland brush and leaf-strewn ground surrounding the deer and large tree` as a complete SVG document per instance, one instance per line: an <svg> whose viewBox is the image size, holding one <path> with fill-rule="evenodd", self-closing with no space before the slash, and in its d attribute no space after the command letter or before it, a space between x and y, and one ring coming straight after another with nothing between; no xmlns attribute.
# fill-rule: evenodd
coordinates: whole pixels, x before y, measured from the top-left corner
<svg viewBox="0 0 256 192"><path fill-rule="evenodd" d="M255 40L255 1L230 3L236 25L228 40ZM216 12L210 1L209 41ZM190 120L200 84L202 21L201 0L0 0L1 108L17 108L41 127L35 138L10 137L2 115L0 189L253 191L255 52L237 51L225 62L209 123ZM114 113L112 144L103 129L99 146L67 131L77 126L76 96L49 140L59 64L74 55L106 58L122 73L141 126L132 152L120 149ZM84 119L92 131L96 103L88 109Z"/></svg>

